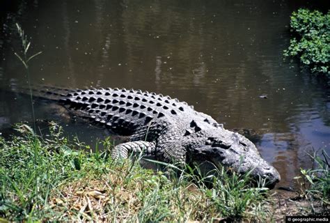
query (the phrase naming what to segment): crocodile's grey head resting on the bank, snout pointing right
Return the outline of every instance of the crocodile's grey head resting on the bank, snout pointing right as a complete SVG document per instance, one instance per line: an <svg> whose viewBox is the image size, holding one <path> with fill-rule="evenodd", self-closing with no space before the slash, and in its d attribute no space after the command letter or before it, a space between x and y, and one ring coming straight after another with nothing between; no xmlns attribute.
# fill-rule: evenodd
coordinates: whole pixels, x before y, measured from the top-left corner
<svg viewBox="0 0 330 223"><path fill-rule="evenodd" d="M265 180L265 186L270 189L281 180L278 171L262 159L249 139L228 130L221 130L220 134L217 132L213 132L212 137L203 139L202 144L193 149L194 154L189 155L192 162L206 160L217 167L227 167L239 174L251 171L250 176L256 182Z"/></svg>

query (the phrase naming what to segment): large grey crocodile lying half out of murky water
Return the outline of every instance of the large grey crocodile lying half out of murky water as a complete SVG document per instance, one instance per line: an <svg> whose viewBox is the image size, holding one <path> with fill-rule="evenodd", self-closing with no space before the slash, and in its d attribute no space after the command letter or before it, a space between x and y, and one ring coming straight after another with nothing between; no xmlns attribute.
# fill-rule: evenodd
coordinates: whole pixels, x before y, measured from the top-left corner
<svg viewBox="0 0 330 223"><path fill-rule="evenodd" d="M128 142L113 148L114 159L142 152L162 162L210 162L239 173L251 171L253 178L265 179L269 188L281 179L249 139L226 130L211 116L196 112L187 102L133 89L42 91L74 114L115 134L128 136Z"/></svg>

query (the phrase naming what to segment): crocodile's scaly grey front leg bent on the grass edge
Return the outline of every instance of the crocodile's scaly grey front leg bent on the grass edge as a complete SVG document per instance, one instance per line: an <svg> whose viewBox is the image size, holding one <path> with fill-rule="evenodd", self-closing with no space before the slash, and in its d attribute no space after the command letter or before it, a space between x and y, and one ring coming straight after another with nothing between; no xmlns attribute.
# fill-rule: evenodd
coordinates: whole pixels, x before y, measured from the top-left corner
<svg viewBox="0 0 330 223"><path fill-rule="evenodd" d="M129 141L119 144L113 148L111 156L114 160L118 158L127 158L129 153L146 153L152 154L155 152L156 145L152 141Z"/></svg>

